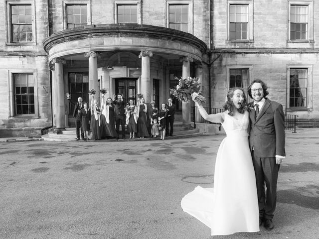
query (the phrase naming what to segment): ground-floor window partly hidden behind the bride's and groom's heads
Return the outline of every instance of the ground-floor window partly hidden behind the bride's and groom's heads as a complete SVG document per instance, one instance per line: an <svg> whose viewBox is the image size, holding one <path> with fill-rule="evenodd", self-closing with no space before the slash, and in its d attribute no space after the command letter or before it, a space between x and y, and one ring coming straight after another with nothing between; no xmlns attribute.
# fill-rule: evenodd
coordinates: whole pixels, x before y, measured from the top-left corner
<svg viewBox="0 0 319 239"><path fill-rule="evenodd" d="M225 96L230 88L241 87L244 89L247 101L249 97L247 88L252 82L253 66L252 65L229 65L226 66L226 91Z"/></svg>

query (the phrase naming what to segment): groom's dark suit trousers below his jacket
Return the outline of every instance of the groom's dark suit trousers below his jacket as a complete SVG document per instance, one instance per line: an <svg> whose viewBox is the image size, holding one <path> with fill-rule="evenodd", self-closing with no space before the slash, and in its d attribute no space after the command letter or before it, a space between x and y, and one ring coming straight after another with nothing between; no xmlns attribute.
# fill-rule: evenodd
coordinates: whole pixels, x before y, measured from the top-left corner
<svg viewBox="0 0 319 239"><path fill-rule="evenodd" d="M275 157L258 157L254 150L252 158L256 176L259 217L273 219L277 203L277 179L280 164L276 164Z"/></svg>

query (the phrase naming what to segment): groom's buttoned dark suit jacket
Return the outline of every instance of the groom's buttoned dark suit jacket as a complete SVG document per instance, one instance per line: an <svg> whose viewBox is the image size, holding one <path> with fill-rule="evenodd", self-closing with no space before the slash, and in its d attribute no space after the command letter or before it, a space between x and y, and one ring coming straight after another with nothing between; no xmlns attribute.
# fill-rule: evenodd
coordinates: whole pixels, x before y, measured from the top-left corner
<svg viewBox="0 0 319 239"><path fill-rule="evenodd" d="M283 106L265 99L257 119L255 110L249 112L250 150L254 148L255 154L263 158L275 157L275 155L286 156ZM250 103L250 106L254 109L253 103Z"/></svg>

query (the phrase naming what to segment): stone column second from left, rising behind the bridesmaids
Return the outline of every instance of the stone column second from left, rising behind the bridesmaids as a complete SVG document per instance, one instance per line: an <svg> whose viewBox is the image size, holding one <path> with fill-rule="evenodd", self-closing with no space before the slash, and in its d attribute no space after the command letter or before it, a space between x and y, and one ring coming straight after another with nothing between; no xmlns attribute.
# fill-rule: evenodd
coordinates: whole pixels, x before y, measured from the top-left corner
<svg viewBox="0 0 319 239"><path fill-rule="evenodd" d="M98 53L94 51L85 52L84 56L89 58L89 90L94 89L96 91L94 98L99 100Z"/></svg>

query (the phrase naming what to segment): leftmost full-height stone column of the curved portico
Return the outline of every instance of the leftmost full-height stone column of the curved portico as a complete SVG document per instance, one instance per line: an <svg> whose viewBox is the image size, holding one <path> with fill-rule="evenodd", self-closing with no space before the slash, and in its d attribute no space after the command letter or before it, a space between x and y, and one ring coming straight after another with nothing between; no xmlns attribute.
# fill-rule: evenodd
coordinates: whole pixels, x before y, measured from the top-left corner
<svg viewBox="0 0 319 239"><path fill-rule="evenodd" d="M62 58L54 58L54 107L55 107L55 131L56 133L65 130L65 102L64 102L64 81L63 81L63 64Z"/></svg>

